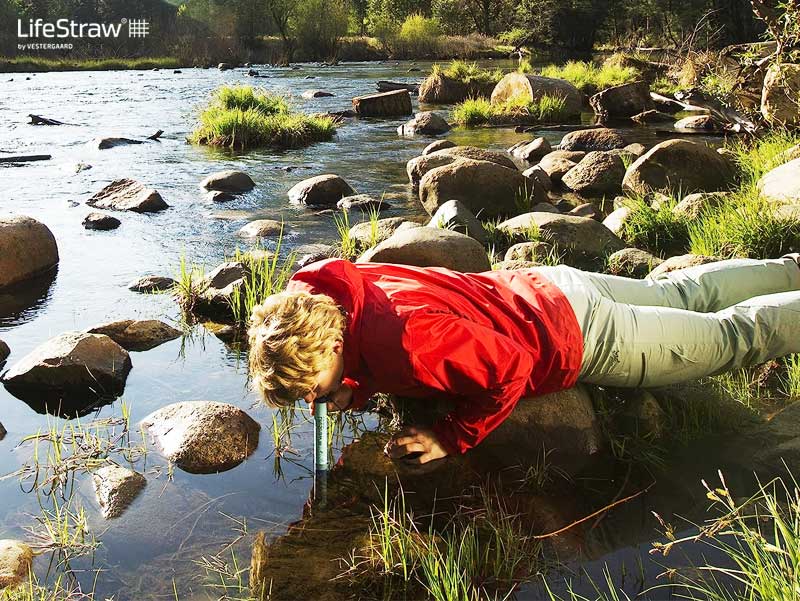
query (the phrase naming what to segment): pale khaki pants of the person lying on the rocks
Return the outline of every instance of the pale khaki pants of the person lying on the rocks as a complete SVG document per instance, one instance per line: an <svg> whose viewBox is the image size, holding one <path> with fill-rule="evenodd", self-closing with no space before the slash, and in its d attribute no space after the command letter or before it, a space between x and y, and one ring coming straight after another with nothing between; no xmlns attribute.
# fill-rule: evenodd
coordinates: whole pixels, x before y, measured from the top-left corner
<svg viewBox="0 0 800 601"><path fill-rule="evenodd" d="M537 267L583 332L580 380L662 386L800 353L800 268L732 259L634 280Z"/></svg>

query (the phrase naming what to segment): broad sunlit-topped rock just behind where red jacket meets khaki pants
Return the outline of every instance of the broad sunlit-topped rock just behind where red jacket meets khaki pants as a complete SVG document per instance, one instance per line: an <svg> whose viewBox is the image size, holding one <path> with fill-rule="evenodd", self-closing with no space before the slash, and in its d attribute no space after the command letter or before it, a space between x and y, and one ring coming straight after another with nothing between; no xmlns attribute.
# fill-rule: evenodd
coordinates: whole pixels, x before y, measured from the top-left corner
<svg viewBox="0 0 800 601"><path fill-rule="evenodd" d="M526 237L537 228L541 239L550 242L564 261L575 266L589 266L606 255L625 248L625 244L594 219L557 215L554 213L525 213L500 223L498 229L514 238Z"/></svg>

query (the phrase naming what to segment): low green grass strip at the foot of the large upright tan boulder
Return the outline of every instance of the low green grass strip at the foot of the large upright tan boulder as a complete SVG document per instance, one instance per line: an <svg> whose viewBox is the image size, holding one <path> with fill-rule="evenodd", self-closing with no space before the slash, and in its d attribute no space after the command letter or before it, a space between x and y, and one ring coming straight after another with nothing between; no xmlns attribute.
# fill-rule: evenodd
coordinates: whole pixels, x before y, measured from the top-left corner
<svg viewBox="0 0 800 601"><path fill-rule="evenodd" d="M453 109L453 120L465 126L555 123L567 117L565 109L566 100L559 96L545 95L533 102L518 97L501 104L468 98Z"/></svg>

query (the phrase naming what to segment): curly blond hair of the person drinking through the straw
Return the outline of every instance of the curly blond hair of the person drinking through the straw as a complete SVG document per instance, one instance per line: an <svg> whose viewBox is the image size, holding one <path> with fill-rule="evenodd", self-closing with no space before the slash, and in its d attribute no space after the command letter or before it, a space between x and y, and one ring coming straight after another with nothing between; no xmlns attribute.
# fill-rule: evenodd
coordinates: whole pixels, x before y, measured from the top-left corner
<svg viewBox="0 0 800 601"><path fill-rule="evenodd" d="M294 404L331 367L344 329L344 311L325 294L273 294L250 317L251 385L272 407Z"/></svg>

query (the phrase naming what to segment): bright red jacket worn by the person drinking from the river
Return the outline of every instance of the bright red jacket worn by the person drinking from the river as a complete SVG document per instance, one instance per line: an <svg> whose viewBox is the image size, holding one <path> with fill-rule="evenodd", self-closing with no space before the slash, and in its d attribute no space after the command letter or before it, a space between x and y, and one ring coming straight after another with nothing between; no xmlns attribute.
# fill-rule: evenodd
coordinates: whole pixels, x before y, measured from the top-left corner
<svg viewBox="0 0 800 601"><path fill-rule="evenodd" d="M327 294L347 311L353 408L377 392L453 397L456 410L434 426L451 453L477 445L521 397L569 388L580 372L572 307L535 271L328 259L298 271L287 290Z"/></svg>

